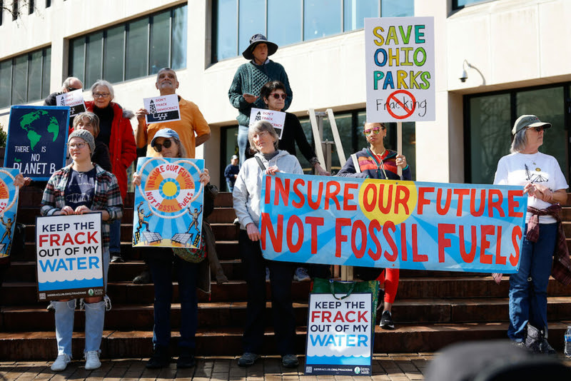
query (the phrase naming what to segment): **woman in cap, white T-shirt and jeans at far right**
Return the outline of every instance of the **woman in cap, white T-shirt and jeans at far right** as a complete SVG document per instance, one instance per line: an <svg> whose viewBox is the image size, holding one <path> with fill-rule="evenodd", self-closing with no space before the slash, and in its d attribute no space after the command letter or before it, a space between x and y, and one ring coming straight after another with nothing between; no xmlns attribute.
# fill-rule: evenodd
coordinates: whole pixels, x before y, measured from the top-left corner
<svg viewBox="0 0 571 381"><path fill-rule="evenodd" d="M569 253L565 246L560 203L567 201L567 182L557 160L538 151L543 144L544 123L535 115L517 118L512 128L514 139L510 155L497 163L494 184L522 186L527 193L525 232L520 252L520 268L510 275L510 326L507 336L518 346L533 352L555 354L547 336L547 284L552 273L552 257L560 260L553 265L557 271L567 272ZM557 245L562 238L563 245ZM501 274L493 274L500 283Z"/></svg>

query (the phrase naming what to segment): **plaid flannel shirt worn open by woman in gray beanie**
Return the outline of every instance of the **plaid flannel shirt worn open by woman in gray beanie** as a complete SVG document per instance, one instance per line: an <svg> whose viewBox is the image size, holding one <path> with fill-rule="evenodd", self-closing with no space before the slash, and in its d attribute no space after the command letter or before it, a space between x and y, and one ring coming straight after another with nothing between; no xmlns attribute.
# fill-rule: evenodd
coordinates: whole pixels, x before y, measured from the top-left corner
<svg viewBox="0 0 571 381"><path fill-rule="evenodd" d="M66 185L71 173L71 166L61 168L54 172L49 179L44 197L41 199L41 215L54 215L57 211L66 206L65 191ZM113 220L123 217L123 200L121 200L121 191L117 184L117 179L113 173L109 173L98 165L95 165L95 193L94 199L89 207L91 210L107 210L109 219L103 221L101 230L103 233L103 248L109 248L109 224Z"/></svg>

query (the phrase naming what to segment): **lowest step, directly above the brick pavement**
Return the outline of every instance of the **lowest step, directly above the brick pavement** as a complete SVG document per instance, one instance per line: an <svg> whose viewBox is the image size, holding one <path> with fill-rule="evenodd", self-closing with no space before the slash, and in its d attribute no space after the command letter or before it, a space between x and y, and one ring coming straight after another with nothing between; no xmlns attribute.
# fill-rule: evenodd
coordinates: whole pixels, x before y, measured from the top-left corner
<svg viewBox="0 0 571 381"><path fill-rule="evenodd" d="M549 342L555 350L562 350L563 334L571 320L550 322ZM400 324L395 330L375 327L373 351L382 352L435 352L454 342L505 339L507 323L478 322L465 324ZM306 327L298 327L295 335L295 352L305 353ZM198 330L198 355L236 356L243 352L241 328L226 330ZM55 332L0 332L0 358L3 360L54 360L57 355ZM153 332L150 330L104 330L101 342L102 358L137 358L151 355ZM177 353L178 332L172 332L171 352ZM81 358L84 333L74 332L73 356ZM262 350L264 355L276 355L275 337L266 330Z"/></svg>

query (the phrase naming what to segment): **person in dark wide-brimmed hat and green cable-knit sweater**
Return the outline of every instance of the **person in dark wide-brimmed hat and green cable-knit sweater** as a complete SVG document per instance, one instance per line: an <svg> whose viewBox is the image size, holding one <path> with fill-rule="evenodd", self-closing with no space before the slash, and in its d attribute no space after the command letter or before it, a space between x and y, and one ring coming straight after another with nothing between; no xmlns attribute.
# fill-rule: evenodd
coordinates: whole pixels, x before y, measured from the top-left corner
<svg viewBox="0 0 571 381"><path fill-rule="evenodd" d="M250 124L250 111L255 108L266 108L260 98L260 90L268 81L281 81L285 85L285 99L283 111L287 110L293 99L288 74L283 66L268 59L276 53L278 46L268 41L263 34L254 34L250 39L250 46L243 51L242 56L251 60L241 65L228 90L228 98L235 108L238 108L238 156L240 166L246 160L246 146L248 145L248 125Z"/></svg>

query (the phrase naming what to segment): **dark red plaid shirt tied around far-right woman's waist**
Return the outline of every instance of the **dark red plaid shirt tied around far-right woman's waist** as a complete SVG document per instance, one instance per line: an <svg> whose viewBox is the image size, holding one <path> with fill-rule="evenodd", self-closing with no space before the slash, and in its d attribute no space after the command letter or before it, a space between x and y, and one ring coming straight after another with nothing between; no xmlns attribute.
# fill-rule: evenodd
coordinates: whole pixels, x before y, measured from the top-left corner
<svg viewBox="0 0 571 381"><path fill-rule="evenodd" d="M557 220L557 238L555 238L555 253L553 255L553 266L551 275L557 279L562 285L571 284L571 258L567 243L565 242L565 231L561 223L561 205L553 204L546 209L527 207L527 211L532 213L530 222L527 223L527 233L525 237L531 242L537 242L539 235L539 217L540 215L552 215Z"/></svg>

